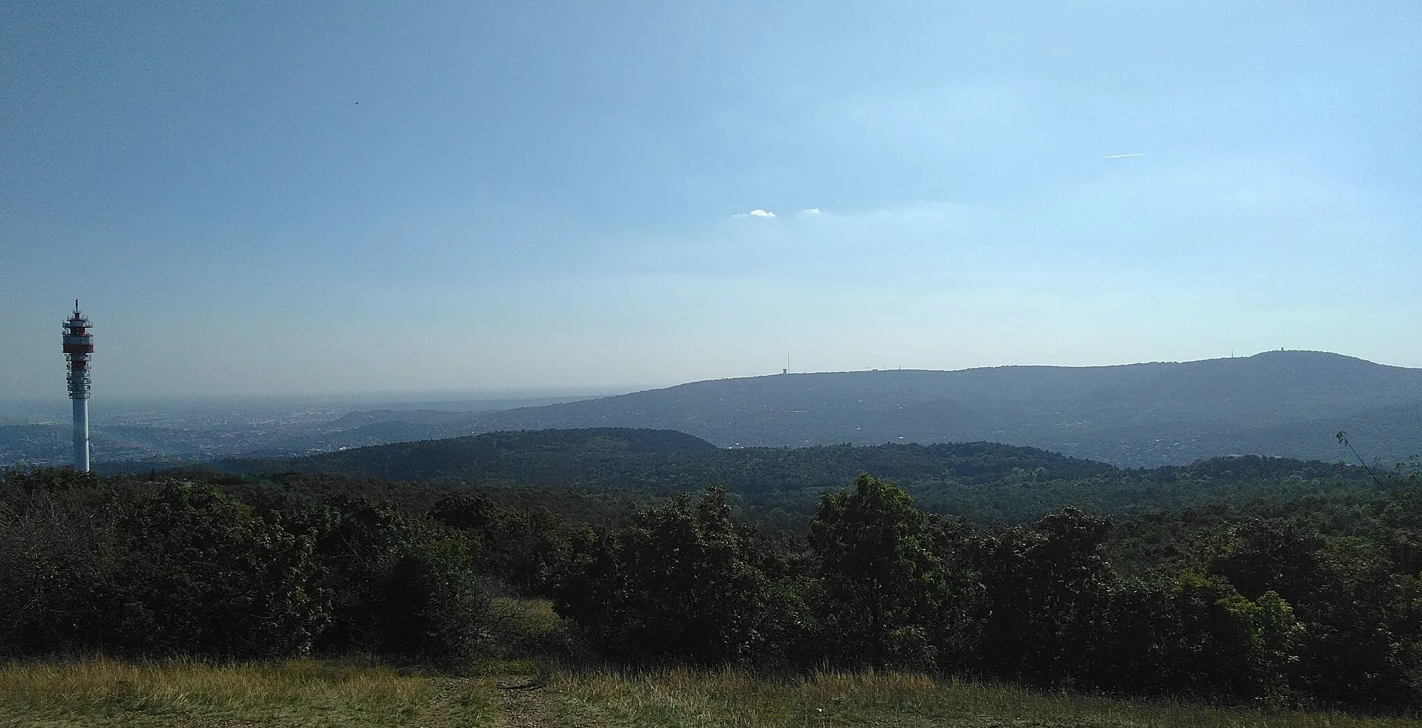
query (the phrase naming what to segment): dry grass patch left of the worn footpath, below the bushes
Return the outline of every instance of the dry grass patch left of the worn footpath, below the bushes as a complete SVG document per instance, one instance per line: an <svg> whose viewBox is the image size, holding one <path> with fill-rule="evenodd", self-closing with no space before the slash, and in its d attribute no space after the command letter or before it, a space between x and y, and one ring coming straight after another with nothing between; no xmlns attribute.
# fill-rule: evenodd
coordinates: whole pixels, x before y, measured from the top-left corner
<svg viewBox="0 0 1422 728"><path fill-rule="evenodd" d="M485 681L316 660L0 667L0 725L485 725Z"/></svg>

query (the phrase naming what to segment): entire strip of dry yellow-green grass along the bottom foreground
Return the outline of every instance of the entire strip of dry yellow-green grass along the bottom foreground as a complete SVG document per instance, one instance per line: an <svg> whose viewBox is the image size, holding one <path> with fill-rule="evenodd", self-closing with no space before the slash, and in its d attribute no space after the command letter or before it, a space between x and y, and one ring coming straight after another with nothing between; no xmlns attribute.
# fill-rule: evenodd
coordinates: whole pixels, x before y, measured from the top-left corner
<svg viewBox="0 0 1422 728"><path fill-rule="evenodd" d="M562 671L503 663L482 675L323 663L213 667L108 660L0 665L6 727L1260 727L1422 725L1122 702L920 675L765 680L737 671ZM510 673L515 671L515 673Z"/></svg>

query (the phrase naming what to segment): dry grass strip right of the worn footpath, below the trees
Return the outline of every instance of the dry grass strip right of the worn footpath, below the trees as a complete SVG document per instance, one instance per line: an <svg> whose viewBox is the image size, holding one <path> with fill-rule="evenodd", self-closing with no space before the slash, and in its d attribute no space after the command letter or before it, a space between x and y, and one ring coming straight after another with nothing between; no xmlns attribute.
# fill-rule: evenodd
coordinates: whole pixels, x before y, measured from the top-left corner
<svg viewBox="0 0 1422 728"><path fill-rule="evenodd" d="M1391 728L1416 721L1264 714L1172 702L1123 702L906 674L762 680L745 673L611 671L557 675L550 695L566 725L815 728L883 727L1268 727Z"/></svg>

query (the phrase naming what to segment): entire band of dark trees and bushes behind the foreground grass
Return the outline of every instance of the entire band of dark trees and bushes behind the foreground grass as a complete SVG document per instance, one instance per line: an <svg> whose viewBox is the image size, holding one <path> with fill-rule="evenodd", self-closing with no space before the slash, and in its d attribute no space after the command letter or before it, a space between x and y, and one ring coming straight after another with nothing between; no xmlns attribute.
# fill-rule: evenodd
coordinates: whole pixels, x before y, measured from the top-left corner
<svg viewBox="0 0 1422 728"><path fill-rule="evenodd" d="M1405 488L1007 526L927 513L860 475L789 529L745 518L725 488L616 502L626 513L599 523L546 508L557 493L506 498L9 472L0 657L367 653L459 668L493 648L489 594L513 593L553 601L570 654L629 665L1422 705L1422 508Z"/></svg>

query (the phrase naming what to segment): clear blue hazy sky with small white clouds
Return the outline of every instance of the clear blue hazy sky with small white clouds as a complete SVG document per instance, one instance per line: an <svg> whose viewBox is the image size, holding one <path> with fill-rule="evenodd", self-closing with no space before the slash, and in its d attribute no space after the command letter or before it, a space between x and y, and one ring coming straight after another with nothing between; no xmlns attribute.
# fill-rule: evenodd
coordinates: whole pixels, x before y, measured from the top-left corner
<svg viewBox="0 0 1422 728"><path fill-rule="evenodd" d="M3 3L0 397L1422 367L1416 0L698 6Z"/></svg>

